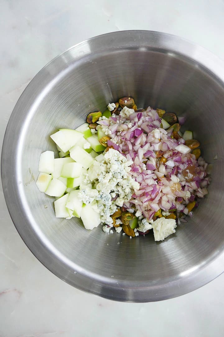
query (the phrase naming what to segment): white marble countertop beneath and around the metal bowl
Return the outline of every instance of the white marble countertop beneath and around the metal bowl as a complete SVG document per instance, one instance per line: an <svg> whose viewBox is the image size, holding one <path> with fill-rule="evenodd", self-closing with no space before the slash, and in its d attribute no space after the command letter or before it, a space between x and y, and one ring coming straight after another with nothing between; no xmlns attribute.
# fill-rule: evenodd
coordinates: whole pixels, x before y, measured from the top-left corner
<svg viewBox="0 0 224 337"><path fill-rule="evenodd" d="M223 14L223 0L1 0L0 147L21 92L72 45L117 30L159 30L224 59ZM1 186L0 214L0 337L224 335L224 274L163 302L105 300L73 288L41 265L16 232Z"/></svg>

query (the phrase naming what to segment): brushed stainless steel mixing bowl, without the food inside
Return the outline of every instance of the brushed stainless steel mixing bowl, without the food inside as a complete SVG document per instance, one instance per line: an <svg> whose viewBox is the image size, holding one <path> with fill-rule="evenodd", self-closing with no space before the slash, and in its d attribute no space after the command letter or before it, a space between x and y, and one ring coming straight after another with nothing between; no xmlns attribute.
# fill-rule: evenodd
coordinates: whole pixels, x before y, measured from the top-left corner
<svg viewBox="0 0 224 337"><path fill-rule="evenodd" d="M186 128L194 130L203 156L214 164L208 197L164 242L155 243L152 235L107 235L101 226L87 231L77 218L55 218L53 198L35 185L40 153L56 150L49 135L76 128L89 112L122 96L134 97L138 107L186 116ZM82 42L35 76L9 120L2 183L12 220L34 255L79 289L133 302L190 292L224 270L223 130L224 66L210 52L150 31Z"/></svg>

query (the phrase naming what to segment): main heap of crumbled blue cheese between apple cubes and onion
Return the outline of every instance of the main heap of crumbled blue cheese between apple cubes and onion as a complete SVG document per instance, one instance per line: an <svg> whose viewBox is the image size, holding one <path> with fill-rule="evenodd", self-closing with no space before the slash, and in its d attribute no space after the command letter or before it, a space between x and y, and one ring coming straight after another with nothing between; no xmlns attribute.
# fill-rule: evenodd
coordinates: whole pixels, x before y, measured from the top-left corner
<svg viewBox="0 0 224 337"><path fill-rule="evenodd" d="M81 200L85 204L95 200L101 221L110 227L113 227L111 214L140 187L129 173L131 164L119 151L109 149L102 162L93 162L80 185ZM112 200L116 195L117 199Z"/></svg>

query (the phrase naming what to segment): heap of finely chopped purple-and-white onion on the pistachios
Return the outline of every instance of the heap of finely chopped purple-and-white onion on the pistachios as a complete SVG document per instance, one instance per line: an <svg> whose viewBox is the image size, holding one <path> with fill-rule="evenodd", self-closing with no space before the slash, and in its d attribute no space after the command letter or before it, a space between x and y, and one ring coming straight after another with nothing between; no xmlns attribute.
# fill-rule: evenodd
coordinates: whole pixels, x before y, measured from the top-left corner
<svg viewBox="0 0 224 337"><path fill-rule="evenodd" d="M177 216L179 216L180 212L188 213L186 205L194 201L195 196L204 197L208 193L207 185L210 180L205 178L205 171L209 166L201 157L197 161L190 153L182 154L175 149L185 141L182 138L178 141L173 139L172 128L166 131L160 127L161 119L155 110L148 107L146 111L141 110L131 114L130 129L119 116L109 120L115 123L110 123L109 129L112 128L110 137L115 137L116 132L117 144L111 141L107 144L118 149L128 160L134 161L130 172L140 184L140 189L133 194L126 208L130 207L130 203L135 205L136 210L141 211L147 219L151 219L160 208L165 211L177 209ZM184 118L179 117L179 123L183 121ZM156 157L158 151L162 151L160 157L163 155L167 159L166 163L158 165L159 158ZM148 160L145 167L143 161L146 159ZM187 182L182 174L188 165L195 167L191 182ZM181 190L172 189L175 183L181 184ZM187 192L190 192L190 197L186 197L189 194ZM179 219L178 223L180 223Z"/></svg>

